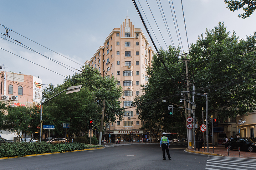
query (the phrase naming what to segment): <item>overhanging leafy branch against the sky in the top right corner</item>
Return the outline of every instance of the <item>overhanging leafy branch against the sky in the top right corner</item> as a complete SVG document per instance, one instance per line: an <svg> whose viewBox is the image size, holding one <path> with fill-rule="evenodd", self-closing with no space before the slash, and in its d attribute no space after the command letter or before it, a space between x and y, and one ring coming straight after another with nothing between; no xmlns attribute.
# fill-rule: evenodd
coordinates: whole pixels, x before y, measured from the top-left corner
<svg viewBox="0 0 256 170"><path fill-rule="evenodd" d="M244 13L238 15L238 17L242 17L242 19L250 17L250 15L252 15L256 9L255 0L224 0L224 2L228 4L227 8L230 11L236 11L240 8L243 8Z"/></svg>

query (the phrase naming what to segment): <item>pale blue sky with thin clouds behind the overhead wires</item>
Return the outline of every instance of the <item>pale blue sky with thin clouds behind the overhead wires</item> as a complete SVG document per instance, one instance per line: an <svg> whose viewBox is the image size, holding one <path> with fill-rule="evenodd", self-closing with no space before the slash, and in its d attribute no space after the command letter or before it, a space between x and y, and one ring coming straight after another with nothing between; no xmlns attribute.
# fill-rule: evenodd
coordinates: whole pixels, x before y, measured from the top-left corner
<svg viewBox="0 0 256 170"><path fill-rule="evenodd" d="M188 44L196 43L198 36L205 35L206 29L213 29L219 22L224 22L227 31L235 31L243 39L256 30L256 12L249 18L239 18L238 14L243 11L230 12L224 0L183 0L187 36L180 0L173 0L174 10L172 0L136 0L136 3L158 49L167 49L173 41L175 47L183 46L182 51L188 52ZM163 9L172 41L158 5ZM174 11L176 19L172 17ZM5 1L0 10L1 70L39 76L43 87L50 83L62 84L67 75L78 72L75 69L94 56L111 31L120 28L127 15L135 28L142 29L152 46L132 0ZM175 23L177 20L176 29L173 20ZM3 35L6 28L2 25L12 30L8 33L10 38ZM180 34L176 33L177 25Z"/></svg>

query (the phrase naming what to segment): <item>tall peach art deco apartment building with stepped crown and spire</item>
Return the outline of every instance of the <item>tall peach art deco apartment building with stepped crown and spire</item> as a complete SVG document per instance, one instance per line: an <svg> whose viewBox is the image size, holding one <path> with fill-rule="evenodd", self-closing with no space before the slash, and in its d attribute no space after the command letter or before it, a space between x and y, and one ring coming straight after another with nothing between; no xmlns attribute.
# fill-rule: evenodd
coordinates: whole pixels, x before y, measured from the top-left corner
<svg viewBox="0 0 256 170"><path fill-rule="evenodd" d="M85 62L85 65L98 69L104 77L115 77L123 88L120 102L125 108L125 115L122 120L110 123L110 129L106 129L103 139L112 143L117 139L121 142L139 142L145 137L149 139L149 133L140 129L143 125L138 119L140 113L131 105L136 95L142 95L140 85L147 84L146 71L151 66L153 54L141 29L134 28L126 17L120 28L113 29L90 61Z"/></svg>

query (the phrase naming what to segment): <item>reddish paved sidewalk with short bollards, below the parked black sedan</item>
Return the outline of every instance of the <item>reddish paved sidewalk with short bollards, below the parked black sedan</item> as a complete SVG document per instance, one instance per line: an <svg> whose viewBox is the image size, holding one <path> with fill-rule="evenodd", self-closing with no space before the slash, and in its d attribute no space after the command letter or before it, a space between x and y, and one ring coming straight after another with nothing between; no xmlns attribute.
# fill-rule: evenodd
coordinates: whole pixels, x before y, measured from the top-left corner
<svg viewBox="0 0 256 170"><path fill-rule="evenodd" d="M205 151L204 151L203 146L202 146L202 148L200 148L200 151L198 151L197 148L196 148L195 151L194 151L194 148L192 148L192 149L186 148L186 151L187 152L192 152L192 153L199 153L199 154L206 154L206 155L228 157L228 149L225 148L224 146L214 146L214 153L212 151L212 146L209 147L209 152L206 152L207 151L206 147L205 147ZM229 157L239 158L238 149L233 149L233 150L229 151ZM240 158L256 159L256 153L255 152L247 152L247 151L241 151L240 150Z"/></svg>

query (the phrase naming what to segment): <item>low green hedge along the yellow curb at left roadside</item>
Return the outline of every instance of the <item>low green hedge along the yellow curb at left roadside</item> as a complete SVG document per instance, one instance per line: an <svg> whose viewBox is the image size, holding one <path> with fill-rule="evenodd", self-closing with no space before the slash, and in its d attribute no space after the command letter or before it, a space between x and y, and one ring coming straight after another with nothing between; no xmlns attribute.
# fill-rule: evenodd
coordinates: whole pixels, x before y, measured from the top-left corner
<svg viewBox="0 0 256 170"><path fill-rule="evenodd" d="M34 142L34 143L3 143L0 144L0 158L3 157L22 157L25 155L40 154L40 153L54 153L65 152L73 150L81 150L86 148L102 147L102 145L88 145L84 143L59 143L50 144L47 142Z"/></svg>

